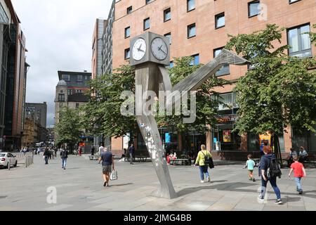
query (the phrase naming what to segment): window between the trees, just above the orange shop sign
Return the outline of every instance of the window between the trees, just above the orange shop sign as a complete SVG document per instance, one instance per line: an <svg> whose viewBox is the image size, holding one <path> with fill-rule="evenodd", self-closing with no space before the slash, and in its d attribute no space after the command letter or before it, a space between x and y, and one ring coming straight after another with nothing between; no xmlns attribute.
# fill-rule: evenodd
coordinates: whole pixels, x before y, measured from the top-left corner
<svg viewBox="0 0 316 225"><path fill-rule="evenodd" d="M217 100L218 103L218 115L235 115L239 106L236 103L237 94L230 92L226 94L219 94Z"/></svg>

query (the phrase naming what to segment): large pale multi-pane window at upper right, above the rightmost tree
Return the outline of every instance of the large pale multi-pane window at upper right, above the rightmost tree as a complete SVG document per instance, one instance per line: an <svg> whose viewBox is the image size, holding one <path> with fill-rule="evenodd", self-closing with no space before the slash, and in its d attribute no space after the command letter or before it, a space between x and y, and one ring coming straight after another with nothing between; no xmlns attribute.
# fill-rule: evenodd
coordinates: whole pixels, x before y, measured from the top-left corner
<svg viewBox="0 0 316 225"><path fill-rule="evenodd" d="M287 30L290 56L310 57L312 56L312 46L310 43L310 25L303 25Z"/></svg>

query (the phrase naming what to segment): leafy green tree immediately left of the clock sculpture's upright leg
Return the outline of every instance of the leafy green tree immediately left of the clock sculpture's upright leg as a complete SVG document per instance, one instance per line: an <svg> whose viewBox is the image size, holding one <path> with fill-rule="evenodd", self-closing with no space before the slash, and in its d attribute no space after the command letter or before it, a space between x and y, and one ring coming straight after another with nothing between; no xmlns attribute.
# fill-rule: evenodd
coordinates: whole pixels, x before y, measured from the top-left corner
<svg viewBox="0 0 316 225"><path fill-rule="evenodd" d="M88 134L113 137L135 134L138 129L135 116L121 115L121 105L124 103L121 93L135 93L134 77L135 69L130 65L122 65L116 73L91 80L91 89L86 92L90 101L81 108L81 125Z"/></svg>

